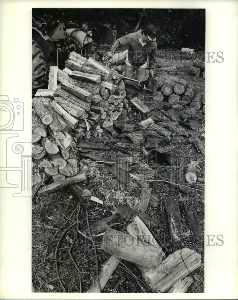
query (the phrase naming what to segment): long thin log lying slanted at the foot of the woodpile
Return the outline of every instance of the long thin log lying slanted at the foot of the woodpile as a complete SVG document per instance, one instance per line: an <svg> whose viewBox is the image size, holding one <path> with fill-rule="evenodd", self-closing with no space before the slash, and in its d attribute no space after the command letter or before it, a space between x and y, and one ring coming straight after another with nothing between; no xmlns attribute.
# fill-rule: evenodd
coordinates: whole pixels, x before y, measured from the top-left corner
<svg viewBox="0 0 238 300"><path fill-rule="evenodd" d="M58 190L61 190L65 187L68 187L72 184L75 184L77 182L80 182L80 181L84 181L86 180L86 175L85 173L82 173L82 174L77 174L75 176L72 176L72 177L69 177L67 179L65 179L63 182L59 183L59 184L56 184L56 183L52 183L52 184L49 184L45 187L42 187L41 190L38 190L38 193L54 193Z"/></svg>

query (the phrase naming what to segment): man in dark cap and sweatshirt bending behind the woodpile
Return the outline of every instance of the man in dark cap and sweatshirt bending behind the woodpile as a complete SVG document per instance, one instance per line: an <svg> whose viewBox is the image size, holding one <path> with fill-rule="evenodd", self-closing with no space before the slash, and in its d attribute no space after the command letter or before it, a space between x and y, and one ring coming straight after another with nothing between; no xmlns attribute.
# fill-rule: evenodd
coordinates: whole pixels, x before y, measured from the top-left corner
<svg viewBox="0 0 238 300"><path fill-rule="evenodd" d="M125 77L136 78L139 81L146 80L147 60L149 58L149 76L154 77L155 52L157 50L156 34L158 29L150 24L143 30L129 33L116 40L110 52L105 55L105 61L110 61L114 52L121 46L128 45L128 53L125 59Z"/></svg>

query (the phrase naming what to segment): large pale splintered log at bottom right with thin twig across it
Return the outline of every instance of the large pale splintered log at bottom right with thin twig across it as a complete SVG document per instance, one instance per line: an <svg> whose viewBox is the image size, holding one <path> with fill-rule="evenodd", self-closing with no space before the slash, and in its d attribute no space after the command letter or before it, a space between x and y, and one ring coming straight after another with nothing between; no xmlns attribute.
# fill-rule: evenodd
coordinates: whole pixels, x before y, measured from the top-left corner
<svg viewBox="0 0 238 300"><path fill-rule="evenodd" d="M200 265L200 254L194 250L182 248L168 255L155 272L147 271L143 277L146 283L157 292L165 292Z"/></svg>

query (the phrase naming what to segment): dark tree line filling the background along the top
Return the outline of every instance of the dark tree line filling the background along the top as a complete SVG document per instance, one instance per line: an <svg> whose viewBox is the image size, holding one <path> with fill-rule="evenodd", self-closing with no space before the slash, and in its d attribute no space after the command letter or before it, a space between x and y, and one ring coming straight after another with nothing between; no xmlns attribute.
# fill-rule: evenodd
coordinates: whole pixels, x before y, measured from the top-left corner
<svg viewBox="0 0 238 300"><path fill-rule="evenodd" d="M78 23L86 22L93 31L93 38L100 43L101 24L117 30L117 37L134 32L142 9L125 8L46 8L33 9L32 13L43 17L51 14L55 20ZM145 9L140 29L154 24L158 33L158 48L179 49L187 47L205 49L205 9Z"/></svg>

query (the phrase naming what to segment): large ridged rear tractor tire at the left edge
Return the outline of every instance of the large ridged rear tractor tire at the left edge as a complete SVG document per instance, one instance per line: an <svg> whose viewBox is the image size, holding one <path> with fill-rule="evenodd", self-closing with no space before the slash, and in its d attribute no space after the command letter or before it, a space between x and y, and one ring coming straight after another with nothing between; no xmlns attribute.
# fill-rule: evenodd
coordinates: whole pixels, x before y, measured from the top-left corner
<svg viewBox="0 0 238 300"><path fill-rule="evenodd" d="M38 43L32 40L32 96L39 88L47 88L47 60L43 49Z"/></svg>

